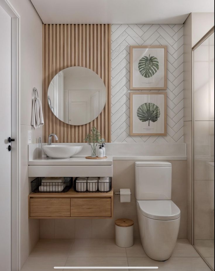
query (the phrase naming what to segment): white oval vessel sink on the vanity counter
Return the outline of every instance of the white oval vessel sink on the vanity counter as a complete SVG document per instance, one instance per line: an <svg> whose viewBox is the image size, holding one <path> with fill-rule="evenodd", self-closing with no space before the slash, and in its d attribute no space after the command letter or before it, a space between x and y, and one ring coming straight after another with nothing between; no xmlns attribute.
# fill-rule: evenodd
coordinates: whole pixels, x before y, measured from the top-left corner
<svg viewBox="0 0 215 271"><path fill-rule="evenodd" d="M51 158L69 158L82 150L83 146L47 145L43 146L44 152Z"/></svg>

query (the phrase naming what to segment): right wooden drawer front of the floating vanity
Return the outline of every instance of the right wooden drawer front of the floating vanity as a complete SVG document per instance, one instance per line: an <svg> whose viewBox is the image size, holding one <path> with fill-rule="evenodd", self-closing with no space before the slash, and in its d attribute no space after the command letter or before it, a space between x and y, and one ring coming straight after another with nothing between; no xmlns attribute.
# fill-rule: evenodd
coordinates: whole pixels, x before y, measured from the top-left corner
<svg viewBox="0 0 215 271"><path fill-rule="evenodd" d="M111 198L71 198L71 217L111 217Z"/></svg>

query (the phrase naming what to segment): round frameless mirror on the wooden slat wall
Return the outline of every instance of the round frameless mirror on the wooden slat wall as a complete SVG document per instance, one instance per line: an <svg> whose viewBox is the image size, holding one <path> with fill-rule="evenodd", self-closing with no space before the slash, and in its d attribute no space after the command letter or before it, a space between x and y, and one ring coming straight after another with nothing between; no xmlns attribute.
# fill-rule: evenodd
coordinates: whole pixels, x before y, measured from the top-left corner
<svg viewBox="0 0 215 271"><path fill-rule="evenodd" d="M58 119L71 125L83 125L102 112L106 88L94 71L70 67L57 73L51 80L47 99Z"/></svg>

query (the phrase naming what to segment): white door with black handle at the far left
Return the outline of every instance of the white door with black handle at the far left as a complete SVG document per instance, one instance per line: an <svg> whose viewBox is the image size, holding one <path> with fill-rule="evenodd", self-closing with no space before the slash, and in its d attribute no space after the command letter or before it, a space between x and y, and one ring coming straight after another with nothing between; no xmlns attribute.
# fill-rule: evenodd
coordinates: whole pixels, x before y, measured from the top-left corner
<svg viewBox="0 0 215 271"><path fill-rule="evenodd" d="M11 270L11 17L0 6L0 270Z"/></svg>

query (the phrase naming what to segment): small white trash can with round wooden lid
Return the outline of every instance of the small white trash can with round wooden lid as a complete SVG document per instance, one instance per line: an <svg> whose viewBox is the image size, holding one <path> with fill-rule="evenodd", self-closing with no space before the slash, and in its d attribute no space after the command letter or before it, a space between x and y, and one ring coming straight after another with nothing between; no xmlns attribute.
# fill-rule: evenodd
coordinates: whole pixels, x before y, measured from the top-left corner
<svg viewBox="0 0 215 271"><path fill-rule="evenodd" d="M115 220L116 245L121 248L133 246L133 225L134 221L128 218L119 218Z"/></svg>

